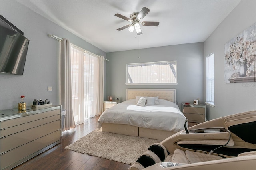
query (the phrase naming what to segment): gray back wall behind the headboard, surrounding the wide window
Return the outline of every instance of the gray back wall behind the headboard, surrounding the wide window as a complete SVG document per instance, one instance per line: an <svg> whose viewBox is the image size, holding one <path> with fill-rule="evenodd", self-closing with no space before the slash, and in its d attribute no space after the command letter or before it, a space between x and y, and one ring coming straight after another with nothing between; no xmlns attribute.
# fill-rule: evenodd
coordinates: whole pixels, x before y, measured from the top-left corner
<svg viewBox="0 0 256 170"><path fill-rule="evenodd" d="M106 94L126 100L126 89L176 89L179 107L204 97L204 43L190 43L107 53ZM178 85L125 85L126 64L177 60ZM106 96L105 96L106 99Z"/></svg>

